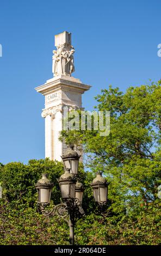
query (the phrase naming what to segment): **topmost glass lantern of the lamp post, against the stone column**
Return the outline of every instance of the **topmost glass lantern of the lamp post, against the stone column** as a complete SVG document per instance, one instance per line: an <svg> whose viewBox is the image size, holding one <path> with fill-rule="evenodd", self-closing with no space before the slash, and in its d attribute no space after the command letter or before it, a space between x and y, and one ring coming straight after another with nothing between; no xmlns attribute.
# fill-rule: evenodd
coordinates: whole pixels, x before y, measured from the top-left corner
<svg viewBox="0 0 161 256"><path fill-rule="evenodd" d="M61 158L64 162L65 169L70 169L72 174L77 175L80 156L73 148L74 147L71 145L66 155L63 155Z"/></svg>

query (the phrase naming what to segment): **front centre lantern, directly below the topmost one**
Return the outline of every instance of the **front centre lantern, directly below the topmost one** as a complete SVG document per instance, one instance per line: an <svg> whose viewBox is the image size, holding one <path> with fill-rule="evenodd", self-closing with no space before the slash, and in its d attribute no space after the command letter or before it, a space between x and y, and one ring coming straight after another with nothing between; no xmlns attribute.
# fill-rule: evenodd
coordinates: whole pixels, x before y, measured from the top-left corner
<svg viewBox="0 0 161 256"><path fill-rule="evenodd" d="M61 198L67 200L70 198L75 198L75 187L76 180L70 170L67 169L63 175L60 176L59 186L61 191Z"/></svg>

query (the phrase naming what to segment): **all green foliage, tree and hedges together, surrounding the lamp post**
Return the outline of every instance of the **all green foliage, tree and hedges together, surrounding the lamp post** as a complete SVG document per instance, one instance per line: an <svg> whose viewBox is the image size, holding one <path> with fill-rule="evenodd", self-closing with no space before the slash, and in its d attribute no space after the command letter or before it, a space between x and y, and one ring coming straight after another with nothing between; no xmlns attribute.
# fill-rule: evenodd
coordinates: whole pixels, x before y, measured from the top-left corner
<svg viewBox="0 0 161 256"><path fill-rule="evenodd" d="M67 144L83 145L86 153L84 172L79 179L85 186L86 216L76 224L78 245L159 245L161 184L161 87L160 81L130 87L102 90L97 95L96 111L110 111L110 134L100 131L63 131ZM90 182L101 170L109 184L108 205L102 214L96 210ZM54 182L53 204L60 202L57 179L63 165L46 160L0 164L0 244L67 245L69 227L58 217L46 218L36 211L34 184L47 173Z"/></svg>

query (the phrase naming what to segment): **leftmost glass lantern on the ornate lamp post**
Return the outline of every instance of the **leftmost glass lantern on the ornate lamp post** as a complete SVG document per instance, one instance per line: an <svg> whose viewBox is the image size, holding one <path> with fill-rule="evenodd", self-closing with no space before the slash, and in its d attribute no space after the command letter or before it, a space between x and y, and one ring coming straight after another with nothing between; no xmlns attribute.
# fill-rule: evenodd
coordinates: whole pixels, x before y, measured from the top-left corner
<svg viewBox="0 0 161 256"><path fill-rule="evenodd" d="M38 190L38 203L48 204L51 198L53 183L47 179L47 174L42 174L42 178L35 185Z"/></svg>

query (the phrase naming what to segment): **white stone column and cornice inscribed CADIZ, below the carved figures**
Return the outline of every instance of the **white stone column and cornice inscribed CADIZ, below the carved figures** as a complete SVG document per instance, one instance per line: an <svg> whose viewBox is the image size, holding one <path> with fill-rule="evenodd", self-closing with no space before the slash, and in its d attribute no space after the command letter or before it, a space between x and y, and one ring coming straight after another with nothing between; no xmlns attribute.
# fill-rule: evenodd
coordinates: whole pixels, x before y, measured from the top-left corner
<svg viewBox="0 0 161 256"><path fill-rule="evenodd" d="M61 74L35 88L45 96L45 108L41 114L45 118L45 157L61 161L61 156L66 153L65 143L59 141L63 130L63 109L82 109L82 94L90 87L77 78Z"/></svg>

